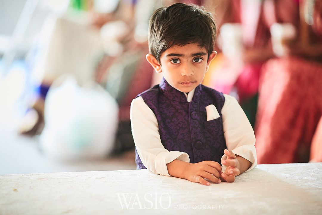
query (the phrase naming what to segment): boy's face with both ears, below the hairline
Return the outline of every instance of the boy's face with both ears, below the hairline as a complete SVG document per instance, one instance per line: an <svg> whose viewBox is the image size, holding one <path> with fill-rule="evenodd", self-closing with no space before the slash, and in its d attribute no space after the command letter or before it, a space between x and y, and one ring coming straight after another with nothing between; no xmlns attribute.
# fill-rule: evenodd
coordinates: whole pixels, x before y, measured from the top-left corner
<svg viewBox="0 0 322 215"><path fill-rule="evenodd" d="M147 54L146 57L156 72L162 73L172 87L188 93L202 82L209 63L216 54L210 54L207 61L206 48L192 43L166 49L160 56L160 63L152 54Z"/></svg>

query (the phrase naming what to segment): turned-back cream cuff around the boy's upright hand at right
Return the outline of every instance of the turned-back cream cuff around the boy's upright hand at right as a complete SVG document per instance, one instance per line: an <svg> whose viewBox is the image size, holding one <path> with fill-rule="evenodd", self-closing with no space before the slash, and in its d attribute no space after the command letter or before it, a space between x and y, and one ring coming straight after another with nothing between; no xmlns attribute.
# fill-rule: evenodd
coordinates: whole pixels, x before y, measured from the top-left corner
<svg viewBox="0 0 322 215"><path fill-rule="evenodd" d="M257 166L257 156L256 156L256 150L254 145L239 146L233 149L232 153L234 153L235 155L239 155L252 163L251 167L245 172L248 172ZM226 165L223 164L223 160L226 160L226 158L227 158L227 155L225 154L221 158L221 164L223 166L222 171L225 171L226 169Z"/></svg>

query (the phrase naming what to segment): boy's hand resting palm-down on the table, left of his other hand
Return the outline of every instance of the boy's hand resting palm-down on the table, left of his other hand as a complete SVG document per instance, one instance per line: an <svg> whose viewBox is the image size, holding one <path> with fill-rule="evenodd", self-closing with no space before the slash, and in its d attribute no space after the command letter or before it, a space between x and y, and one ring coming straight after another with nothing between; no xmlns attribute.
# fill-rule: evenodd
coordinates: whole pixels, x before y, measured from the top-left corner
<svg viewBox="0 0 322 215"><path fill-rule="evenodd" d="M215 161L190 163L186 171L185 179L192 182L199 182L204 185L210 185L204 178L213 181L214 183L220 183L219 177L221 172L222 168L220 164Z"/></svg>

